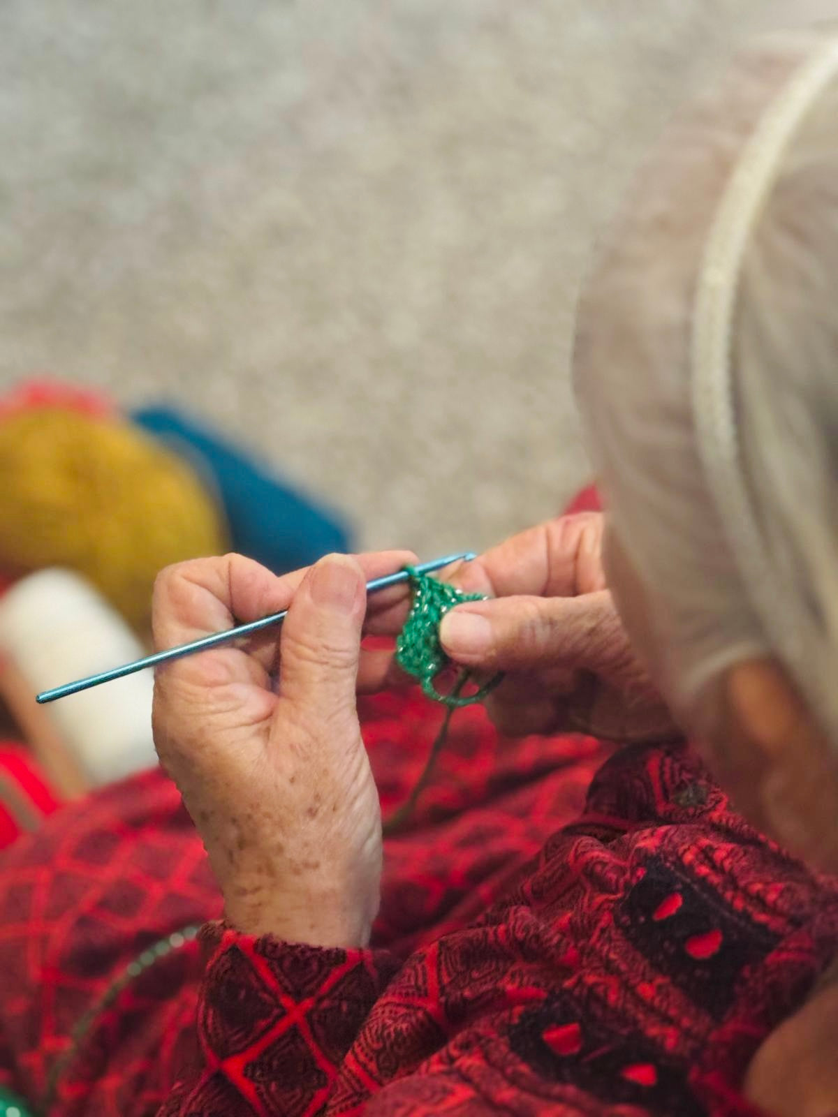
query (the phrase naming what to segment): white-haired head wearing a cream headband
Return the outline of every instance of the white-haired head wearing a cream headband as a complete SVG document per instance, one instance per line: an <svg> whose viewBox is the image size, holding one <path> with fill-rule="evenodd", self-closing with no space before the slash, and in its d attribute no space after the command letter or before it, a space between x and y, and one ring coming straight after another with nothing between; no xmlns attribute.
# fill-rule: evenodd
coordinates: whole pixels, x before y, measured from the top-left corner
<svg viewBox="0 0 838 1117"><path fill-rule="evenodd" d="M838 28L673 127L574 379L630 634L745 813L838 869Z"/></svg>

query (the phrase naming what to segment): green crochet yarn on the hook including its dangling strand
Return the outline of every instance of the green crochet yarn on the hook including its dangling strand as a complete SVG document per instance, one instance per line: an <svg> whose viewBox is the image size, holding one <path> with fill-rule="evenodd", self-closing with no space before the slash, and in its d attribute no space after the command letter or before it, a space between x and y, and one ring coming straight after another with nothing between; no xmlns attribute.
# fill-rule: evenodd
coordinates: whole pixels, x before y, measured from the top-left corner
<svg viewBox="0 0 838 1117"><path fill-rule="evenodd" d="M494 690L503 678L503 674L495 675L488 682L484 684L475 694L463 696L461 691L472 678L470 671L461 671L450 691L441 695L434 686L434 679L450 662L448 656L442 650L439 640L439 626L442 618L455 605L464 601L485 601L482 593L464 593L453 585L438 581L429 574L418 574L412 566L404 567L410 574L410 583L413 590L413 603L410 613L404 622L398 640L396 641L396 661L413 678L419 679L423 693L432 701L441 703L446 706L445 718L439 728L439 733L430 746L430 753L425 764L422 774L413 785L413 790L406 803L403 803L383 824L385 836L397 832L401 825L409 821L413 813L417 800L423 787L429 782L437 757L445 746L448 737L448 726L455 709L460 706L470 706L476 701L482 701L486 695Z"/></svg>

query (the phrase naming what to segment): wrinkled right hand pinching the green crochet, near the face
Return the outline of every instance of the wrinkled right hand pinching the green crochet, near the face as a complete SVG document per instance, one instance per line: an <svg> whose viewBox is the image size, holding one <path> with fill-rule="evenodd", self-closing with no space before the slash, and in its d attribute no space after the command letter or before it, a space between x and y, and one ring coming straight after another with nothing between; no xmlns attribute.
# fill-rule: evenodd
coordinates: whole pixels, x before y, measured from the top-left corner
<svg viewBox="0 0 838 1117"><path fill-rule="evenodd" d="M446 574L495 599L457 605L440 636L464 667L506 672L486 699L502 733L578 731L629 742L678 732L606 589L602 526L599 513L551 519ZM363 682L373 688L397 675L380 653L365 665Z"/></svg>

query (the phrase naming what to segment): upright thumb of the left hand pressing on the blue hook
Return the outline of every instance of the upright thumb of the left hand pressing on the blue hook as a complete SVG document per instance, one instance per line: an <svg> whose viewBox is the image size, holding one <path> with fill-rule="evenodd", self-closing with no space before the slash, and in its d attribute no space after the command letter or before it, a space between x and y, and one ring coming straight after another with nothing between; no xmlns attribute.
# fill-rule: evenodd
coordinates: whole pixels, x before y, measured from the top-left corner
<svg viewBox="0 0 838 1117"><path fill-rule="evenodd" d="M349 555L321 558L295 593L279 637L279 696L306 717L354 709L365 602Z"/></svg>

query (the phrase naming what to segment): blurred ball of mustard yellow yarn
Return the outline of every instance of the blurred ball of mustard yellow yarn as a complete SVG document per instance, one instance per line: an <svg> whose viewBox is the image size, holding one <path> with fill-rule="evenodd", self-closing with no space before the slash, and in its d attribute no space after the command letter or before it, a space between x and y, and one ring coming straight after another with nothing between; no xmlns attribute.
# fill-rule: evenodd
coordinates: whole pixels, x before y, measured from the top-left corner
<svg viewBox="0 0 838 1117"><path fill-rule="evenodd" d="M158 571L219 554L222 516L197 474L125 420L63 408L0 421L0 566L66 566L144 629Z"/></svg>

